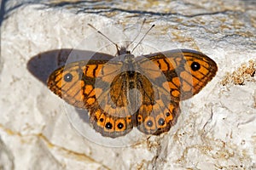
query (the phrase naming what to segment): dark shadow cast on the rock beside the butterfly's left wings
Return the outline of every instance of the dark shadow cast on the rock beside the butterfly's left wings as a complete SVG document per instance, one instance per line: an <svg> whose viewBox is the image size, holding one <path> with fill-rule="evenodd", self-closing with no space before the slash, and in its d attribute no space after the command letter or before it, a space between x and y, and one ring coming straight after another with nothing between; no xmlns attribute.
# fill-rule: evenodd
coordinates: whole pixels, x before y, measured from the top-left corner
<svg viewBox="0 0 256 170"><path fill-rule="evenodd" d="M27 62L26 68L34 77L47 86L48 77L55 69L70 62L89 59L113 59L113 55L72 48L54 49L33 56ZM89 122L87 111L77 108L75 111L83 122Z"/></svg>

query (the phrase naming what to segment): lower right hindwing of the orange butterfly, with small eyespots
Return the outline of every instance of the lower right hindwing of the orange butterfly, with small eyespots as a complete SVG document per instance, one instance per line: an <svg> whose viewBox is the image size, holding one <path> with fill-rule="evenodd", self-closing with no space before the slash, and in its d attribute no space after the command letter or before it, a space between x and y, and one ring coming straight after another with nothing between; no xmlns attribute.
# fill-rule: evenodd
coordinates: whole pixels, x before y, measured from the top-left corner
<svg viewBox="0 0 256 170"><path fill-rule="evenodd" d="M143 96L137 111L137 128L146 134L168 132L179 114L179 102L172 101L160 83L155 86L150 82L148 75L137 75L137 89Z"/></svg>

